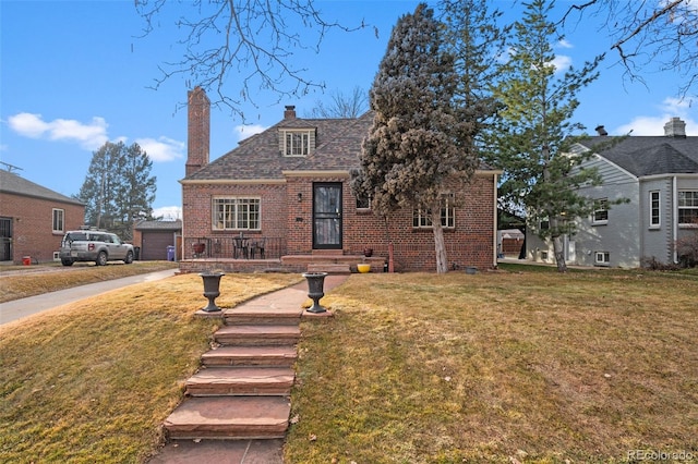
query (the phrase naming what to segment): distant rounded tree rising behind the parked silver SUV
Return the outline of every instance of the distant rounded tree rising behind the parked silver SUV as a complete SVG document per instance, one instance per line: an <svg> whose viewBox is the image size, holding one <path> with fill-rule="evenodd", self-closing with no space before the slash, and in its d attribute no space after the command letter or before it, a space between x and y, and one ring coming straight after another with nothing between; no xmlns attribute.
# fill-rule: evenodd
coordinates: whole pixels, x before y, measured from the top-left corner
<svg viewBox="0 0 698 464"><path fill-rule="evenodd" d="M156 178L153 161L137 144L107 142L87 170L77 198L85 203L85 223L132 239L133 221L153 219Z"/></svg>

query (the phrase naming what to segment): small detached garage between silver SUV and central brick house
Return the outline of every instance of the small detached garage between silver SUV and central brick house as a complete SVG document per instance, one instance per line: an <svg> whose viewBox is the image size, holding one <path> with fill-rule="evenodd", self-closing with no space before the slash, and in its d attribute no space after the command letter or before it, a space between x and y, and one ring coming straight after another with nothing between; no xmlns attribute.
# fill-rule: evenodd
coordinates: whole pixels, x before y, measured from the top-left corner
<svg viewBox="0 0 698 464"><path fill-rule="evenodd" d="M181 236L181 220L141 221L133 229L133 245L141 248L139 259L143 261L179 260Z"/></svg>

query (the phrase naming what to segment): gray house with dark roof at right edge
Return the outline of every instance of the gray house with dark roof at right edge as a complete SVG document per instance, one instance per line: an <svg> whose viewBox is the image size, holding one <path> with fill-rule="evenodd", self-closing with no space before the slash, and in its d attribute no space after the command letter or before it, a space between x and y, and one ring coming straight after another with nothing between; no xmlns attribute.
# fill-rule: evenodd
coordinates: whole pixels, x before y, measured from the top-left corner
<svg viewBox="0 0 698 464"><path fill-rule="evenodd" d="M609 137L590 137L573 152L593 150L604 141ZM686 124L672 118L664 136L629 136L594 152L583 167L597 168L603 182L580 191L594 200L595 210L565 237L567 264L635 268L643 258L677 262L676 240L698 228L698 137L686 136ZM619 198L629 202L609 208ZM552 242L529 237L527 258L554 262Z"/></svg>

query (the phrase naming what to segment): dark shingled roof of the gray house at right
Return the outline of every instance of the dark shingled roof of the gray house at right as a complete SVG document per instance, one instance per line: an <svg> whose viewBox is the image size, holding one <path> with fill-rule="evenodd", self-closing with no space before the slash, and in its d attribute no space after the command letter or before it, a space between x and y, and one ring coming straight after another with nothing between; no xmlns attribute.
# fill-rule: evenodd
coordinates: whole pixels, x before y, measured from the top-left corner
<svg viewBox="0 0 698 464"><path fill-rule="evenodd" d="M593 149L607 141L590 137L581 145ZM698 137L630 136L599 155L637 178L698 173Z"/></svg>

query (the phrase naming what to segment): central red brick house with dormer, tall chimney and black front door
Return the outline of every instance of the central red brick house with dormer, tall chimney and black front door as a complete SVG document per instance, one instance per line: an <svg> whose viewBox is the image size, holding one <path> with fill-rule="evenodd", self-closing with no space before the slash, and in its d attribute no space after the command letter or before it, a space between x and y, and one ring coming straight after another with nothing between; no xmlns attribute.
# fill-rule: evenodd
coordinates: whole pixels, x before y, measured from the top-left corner
<svg viewBox="0 0 698 464"><path fill-rule="evenodd" d="M370 113L301 119L286 107L280 122L209 162L209 101L203 89L190 91L182 269L206 269L212 259L233 271L368 260L382 271L392 247L395 270L435 270L425 217L401 210L385 221L351 192L350 170L371 124ZM449 267L496 266L498 174L483 169L468 185L445 185ZM362 257L366 248L370 258Z"/></svg>

